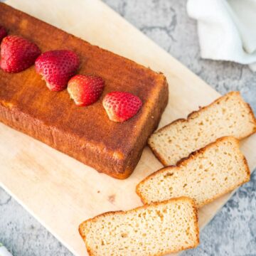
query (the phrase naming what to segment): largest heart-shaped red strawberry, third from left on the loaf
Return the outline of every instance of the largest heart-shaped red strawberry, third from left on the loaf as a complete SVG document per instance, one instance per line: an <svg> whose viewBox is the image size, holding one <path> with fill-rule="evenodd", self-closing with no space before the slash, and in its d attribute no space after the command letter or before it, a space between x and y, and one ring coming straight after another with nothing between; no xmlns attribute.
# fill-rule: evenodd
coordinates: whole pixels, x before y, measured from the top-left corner
<svg viewBox="0 0 256 256"><path fill-rule="evenodd" d="M50 50L36 59L36 72L43 75L52 91L64 90L79 67L79 58L71 50Z"/></svg>

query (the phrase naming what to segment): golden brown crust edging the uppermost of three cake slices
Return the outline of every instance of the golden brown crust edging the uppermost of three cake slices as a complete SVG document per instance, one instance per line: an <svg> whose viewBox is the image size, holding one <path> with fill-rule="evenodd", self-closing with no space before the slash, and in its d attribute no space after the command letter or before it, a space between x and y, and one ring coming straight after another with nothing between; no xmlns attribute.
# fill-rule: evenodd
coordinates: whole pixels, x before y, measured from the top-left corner
<svg viewBox="0 0 256 256"><path fill-rule="evenodd" d="M176 119L174 120L173 122L171 122L170 124L166 124L166 126L164 127L161 127L161 129L157 130L156 132L163 132L165 131L166 129L169 129L169 127L173 124L176 124L178 122L188 122L189 119L193 119L195 117L198 116L199 113L203 112L203 111L206 111L208 110L208 107L211 107L212 105L215 105L215 103L217 102L220 102L221 100L223 100L224 97L228 97L228 95L240 95L240 92L238 91L232 91L232 92L228 92L226 95L223 95L222 97L219 97L218 99L214 100L213 102L211 102L209 105L206 105L204 107L199 107L199 110L196 110L196 111L193 111L191 112L190 114L188 114L188 117L185 119L183 118L180 118L180 119ZM250 107L250 105L246 102L245 103L245 106L247 107L247 110L249 111L250 113L250 116L252 117L252 120L253 120L253 123L255 124L255 127L254 129L252 130L252 132L250 134L247 135L247 137L249 137L250 135L254 134L256 132L256 117L252 111L252 107ZM240 137L240 138L237 138L237 139L245 139L246 137ZM157 149L154 147L153 144L150 143L150 137L148 139L148 145L151 149L151 151L154 153L154 155L156 156L157 159L159 159L159 161L161 161L161 163L164 165L164 166L168 166L168 163L166 163L166 161L161 157L161 154L159 154L159 152L157 151Z"/></svg>

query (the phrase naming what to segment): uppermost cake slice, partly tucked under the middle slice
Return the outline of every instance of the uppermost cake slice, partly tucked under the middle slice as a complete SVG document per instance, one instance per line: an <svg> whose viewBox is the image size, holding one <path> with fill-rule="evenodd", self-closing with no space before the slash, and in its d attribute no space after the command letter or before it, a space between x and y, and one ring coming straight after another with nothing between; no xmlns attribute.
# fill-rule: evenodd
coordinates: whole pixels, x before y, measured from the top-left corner
<svg viewBox="0 0 256 256"><path fill-rule="evenodd" d="M187 119L177 119L159 129L149 138L149 146L161 163L169 166L220 137L243 139L255 131L250 105L239 92L229 92Z"/></svg>

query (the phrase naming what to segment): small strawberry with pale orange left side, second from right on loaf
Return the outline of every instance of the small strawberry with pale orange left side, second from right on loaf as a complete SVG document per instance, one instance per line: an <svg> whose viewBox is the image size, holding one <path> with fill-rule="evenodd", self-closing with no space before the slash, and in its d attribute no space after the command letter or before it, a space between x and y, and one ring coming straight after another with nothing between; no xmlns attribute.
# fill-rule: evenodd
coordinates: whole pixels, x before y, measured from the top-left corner
<svg viewBox="0 0 256 256"><path fill-rule="evenodd" d="M104 87L100 77L75 75L68 82L68 93L78 106L88 106L97 102Z"/></svg>

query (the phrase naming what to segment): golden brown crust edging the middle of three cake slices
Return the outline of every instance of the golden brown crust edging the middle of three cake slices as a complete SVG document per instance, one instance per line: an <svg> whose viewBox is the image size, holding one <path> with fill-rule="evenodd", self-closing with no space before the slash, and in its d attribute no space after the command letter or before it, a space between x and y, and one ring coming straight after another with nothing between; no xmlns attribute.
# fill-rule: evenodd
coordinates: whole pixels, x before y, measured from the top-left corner
<svg viewBox="0 0 256 256"><path fill-rule="evenodd" d="M146 178L144 178L140 183L137 184L136 186L136 193L137 195L141 198L142 200L142 203L147 203L146 201L146 198L143 197L142 193L139 191L139 186L141 186L144 182L148 181L151 177L154 177L156 176L156 174L161 174L161 173L164 173L166 171L166 169L168 170L173 170L173 171L178 171L181 166L186 166L186 164L188 163L188 161L191 161L193 160L195 157L197 157L198 155L201 155L204 153L204 151L206 151L207 149L215 146L215 144L217 144L218 142L222 142L222 141L225 141L225 140L233 140L233 142L235 142L238 147L239 147L239 140L236 139L235 137L231 137L231 136L226 136L226 137L221 137L219 139L217 139L215 142L212 142L210 144L208 144L207 146L204 146L203 148L201 149L198 149L194 152L192 152L188 157L185 157L183 159L181 159L180 161L178 161L178 163L176 164L176 166L166 166L164 168L161 168L159 169L158 171L155 171L153 174L150 174L149 176L147 176ZM211 198L210 200L208 201L205 201L204 203L201 203L200 205L197 205L198 208L201 208L202 206L205 206L206 204L214 201L215 199L219 198L220 196L223 196L225 195L225 193L228 193L230 191L233 191L235 188L238 188L239 186L242 186L242 184L246 183L247 181L250 181L250 169L249 169L249 166L247 164L247 160L245 159L245 156L242 154L242 152L240 151L240 156L241 158L243 159L243 162L245 164L245 168L246 168L246 178L244 181L242 181L241 183L239 183L237 186L233 186L229 189L227 189L226 191L224 191L223 193L215 196L214 198Z"/></svg>

